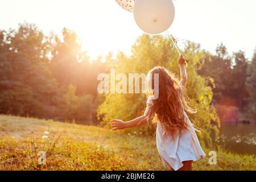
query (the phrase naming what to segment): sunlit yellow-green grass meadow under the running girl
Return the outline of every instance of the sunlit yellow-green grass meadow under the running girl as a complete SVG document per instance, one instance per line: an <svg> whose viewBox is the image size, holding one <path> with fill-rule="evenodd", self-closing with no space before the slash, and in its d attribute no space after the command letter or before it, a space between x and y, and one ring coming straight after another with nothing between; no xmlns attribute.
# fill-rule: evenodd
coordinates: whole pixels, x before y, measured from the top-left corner
<svg viewBox="0 0 256 182"><path fill-rule="evenodd" d="M48 138L44 131L49 131ZM38 152L46 151L46 165ZM208 154L209 148L204 148ZM255 156L217 151L193 163L194 170L255 170ZM155 137L95 126L0 115L0 170L165 170Z"/></svg>

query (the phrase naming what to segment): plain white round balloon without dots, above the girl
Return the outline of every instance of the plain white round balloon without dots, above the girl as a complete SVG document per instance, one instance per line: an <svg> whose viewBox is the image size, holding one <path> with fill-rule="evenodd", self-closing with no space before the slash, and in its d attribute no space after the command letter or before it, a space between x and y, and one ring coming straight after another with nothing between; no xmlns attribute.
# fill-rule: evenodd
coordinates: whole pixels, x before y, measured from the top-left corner
<svg viewBox="0 0 256 182"><path fill-rule="evenodd" d="M160 34L174 22L174 3L171 0L137 0L133 13L135 22L144 32Z"/></svg>

